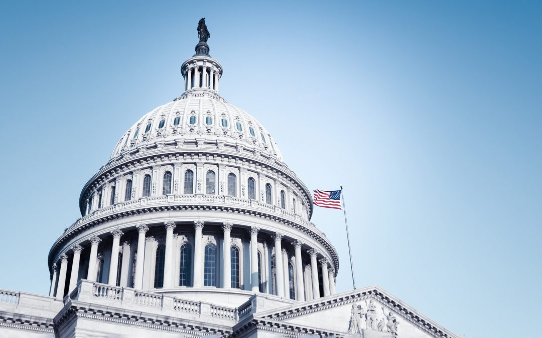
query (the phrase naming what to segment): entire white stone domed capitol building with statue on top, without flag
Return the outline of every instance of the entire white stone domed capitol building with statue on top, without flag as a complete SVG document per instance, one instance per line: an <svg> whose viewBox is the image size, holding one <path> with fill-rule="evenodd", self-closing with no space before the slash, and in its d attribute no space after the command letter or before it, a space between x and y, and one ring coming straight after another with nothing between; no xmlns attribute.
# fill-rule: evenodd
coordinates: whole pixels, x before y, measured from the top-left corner
<svg viewBox="0 0 542 338"><path fill-rule="evenodd" d="M81 191L49 295L0 290L0 337L456 337L377 286L337 293L311 192L220 96L206 31L184 93L136 121Z"/></svg>

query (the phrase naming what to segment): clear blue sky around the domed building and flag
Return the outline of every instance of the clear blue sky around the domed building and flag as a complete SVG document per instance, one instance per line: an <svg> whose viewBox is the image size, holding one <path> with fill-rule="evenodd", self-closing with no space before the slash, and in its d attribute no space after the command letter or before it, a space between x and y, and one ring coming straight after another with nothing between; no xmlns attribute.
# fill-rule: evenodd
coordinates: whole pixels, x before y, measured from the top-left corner
<svg viewBox="0 0 542 338"><path fill-rule="evenodd" d="M221 94L309 189L344 185L357 286L452 332L535 334L542 234L540 2L0 4L0 287L45 294L83 184L182 93L207 18ZM351 288L343 214L313 222Z"/></svg>

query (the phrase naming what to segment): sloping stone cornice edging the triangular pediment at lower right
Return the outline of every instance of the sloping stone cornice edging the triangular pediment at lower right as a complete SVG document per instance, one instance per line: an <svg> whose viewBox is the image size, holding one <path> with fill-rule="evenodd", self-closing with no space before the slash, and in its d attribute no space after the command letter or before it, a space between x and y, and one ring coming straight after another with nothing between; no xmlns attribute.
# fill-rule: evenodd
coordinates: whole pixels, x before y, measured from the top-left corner
<svg viewBox="0 0 542 338"><path fill-rule="evenodd" d="M255 316L261 316L265 319L276 321L288 320L294 317L307 315L321 310L344 306L360 300L375 299L384 304L388 310L397 313L403 320L408 321L418 329L436 338L459 338L457 335L449 332L447 329L431 321L428 317L418 313L415 309L406 306L404 302L387 293L378 286L356 289L346 293L320 298L314 301L308 301L297 307L289 309L281 308L272 311L266 311Z"/></svg>

